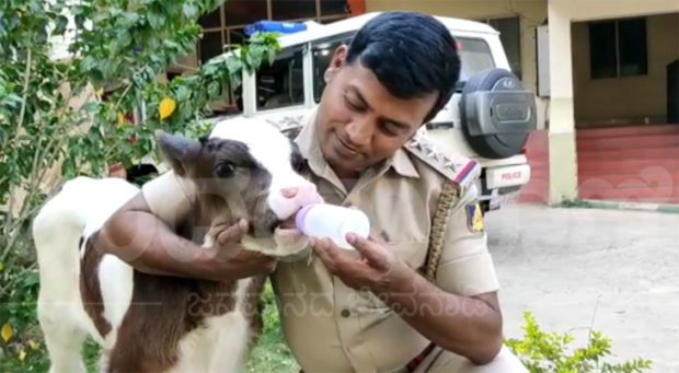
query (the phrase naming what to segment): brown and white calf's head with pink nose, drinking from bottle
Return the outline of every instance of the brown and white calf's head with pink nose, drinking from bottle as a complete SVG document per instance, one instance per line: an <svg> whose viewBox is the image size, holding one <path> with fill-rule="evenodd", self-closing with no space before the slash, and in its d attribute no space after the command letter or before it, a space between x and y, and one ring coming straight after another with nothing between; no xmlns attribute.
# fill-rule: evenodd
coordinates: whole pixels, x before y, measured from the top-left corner
<svg viewBox="0 0 679 373"><path fill-rule="evenodd" d="M322 198L303 177L297 145L278 129L238 118L218 123L200 141L159 132L158 143L174 172L195 187L196 224L206 229L207 240L215 228L246 219L250 232L242 244L249 249L285 256L307 246L294 218Z"/></svg>

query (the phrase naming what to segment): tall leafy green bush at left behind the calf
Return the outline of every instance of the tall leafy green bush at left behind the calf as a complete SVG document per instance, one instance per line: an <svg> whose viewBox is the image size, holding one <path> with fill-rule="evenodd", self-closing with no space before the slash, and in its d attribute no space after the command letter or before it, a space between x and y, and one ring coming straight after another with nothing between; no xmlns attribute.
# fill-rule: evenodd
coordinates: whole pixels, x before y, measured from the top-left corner
<svg viewBox="0 0 679 373"><path fill-rule="evenodd" d="M273 34L164 82L218 0L0 1L0 354L42 371L30 222L60 180L154 153L154 132L197 137L209 103L279 49ZM70 56L54 58L65 36ZM104 94L104 92L106 94ZM138 114L135 123L130 114ZM12 369L14 370L14 369ZM0 371L4 371L0 366Z"/></svg>

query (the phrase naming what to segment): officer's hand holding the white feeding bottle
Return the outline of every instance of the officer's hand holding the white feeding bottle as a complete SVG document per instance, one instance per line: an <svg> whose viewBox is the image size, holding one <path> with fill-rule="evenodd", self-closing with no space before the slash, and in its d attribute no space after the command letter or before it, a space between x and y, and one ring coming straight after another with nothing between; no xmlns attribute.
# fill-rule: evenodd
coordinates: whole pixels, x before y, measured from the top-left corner
<svg viewBox="0 0 679 373"><path fill-rule="evenodd" d="M394 283L408 281L413 270L383 241L375 236L366 240L353 233L347 234L346 240L359 257L337 247L329 238L313 240L312 247L327 270L347 287L381 292Z"/></svg>

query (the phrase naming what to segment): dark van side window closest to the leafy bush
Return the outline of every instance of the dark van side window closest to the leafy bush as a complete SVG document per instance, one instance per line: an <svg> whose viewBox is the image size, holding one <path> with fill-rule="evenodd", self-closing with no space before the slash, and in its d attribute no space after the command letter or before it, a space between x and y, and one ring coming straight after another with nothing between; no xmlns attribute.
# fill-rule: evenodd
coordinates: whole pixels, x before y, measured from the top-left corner
<svg viewBox="0 0 679 373"><path fill-rule="evenodd" d="M302 49L284 50L272 66L257 70L257 109L301 105L304 103Z"/></svg>

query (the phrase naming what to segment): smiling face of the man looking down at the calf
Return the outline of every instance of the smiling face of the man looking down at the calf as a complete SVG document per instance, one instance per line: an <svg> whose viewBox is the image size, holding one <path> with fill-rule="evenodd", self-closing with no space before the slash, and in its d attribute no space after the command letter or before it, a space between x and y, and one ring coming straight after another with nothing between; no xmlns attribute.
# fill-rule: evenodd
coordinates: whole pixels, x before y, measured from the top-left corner
<svg viewBox="0 0 679 373"><path fill-rule="evenodd" d="M327 164L338 177L353 178L399 150L423 124L438 93L395 97L359 59L346 63L346 51L340 47L325 71L317 125Z"/></svg>

